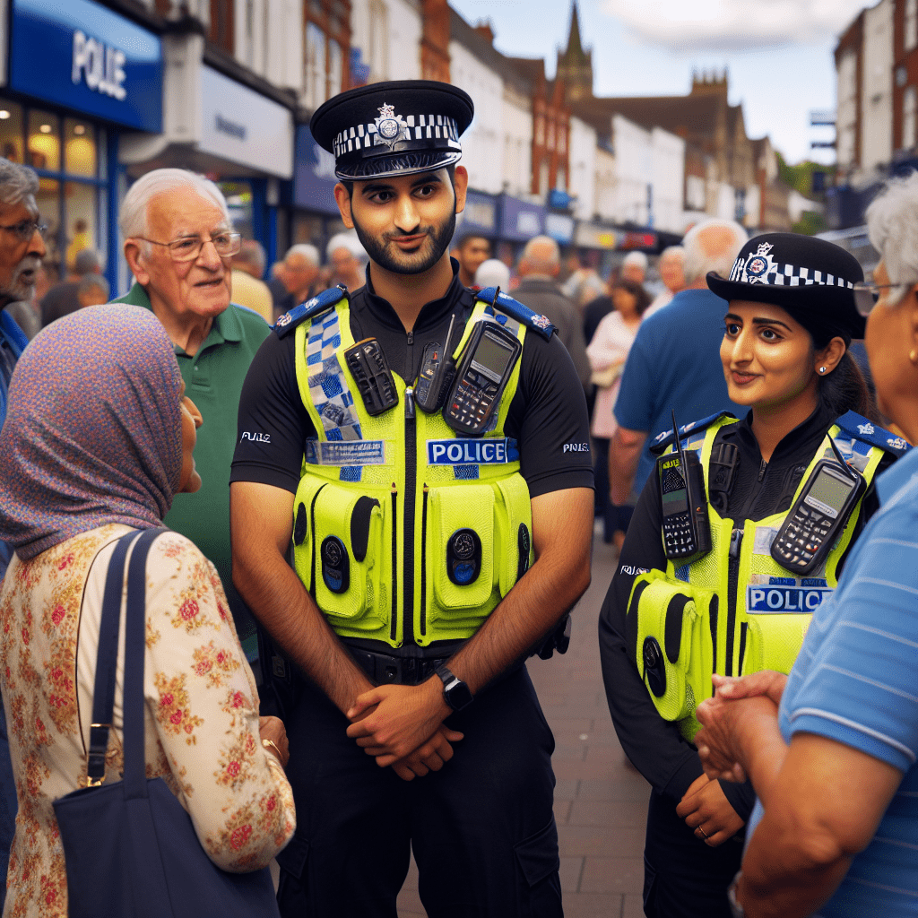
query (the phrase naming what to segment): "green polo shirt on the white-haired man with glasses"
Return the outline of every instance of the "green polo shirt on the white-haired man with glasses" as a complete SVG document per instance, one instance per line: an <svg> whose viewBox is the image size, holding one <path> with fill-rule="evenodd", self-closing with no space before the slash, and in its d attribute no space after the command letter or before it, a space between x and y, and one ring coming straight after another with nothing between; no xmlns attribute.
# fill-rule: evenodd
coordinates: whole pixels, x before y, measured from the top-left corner
<svg viewBox="0 0 918 918"><path fill-rule="evenodd" d="M150 309L147 291L134 284L127 295L115 300ZM195 464L201 476L196 494L176 494L163 521L194 542L217 567L229 599L236 630L250 659L258 653L252 613L232 585L229 552L229 465L236 449L236 419L242 383L252 357L270 326L251 309L233 303L221 312L207 338L189 357L175 345L185 395L201 412L204 423L197 431Z"/></svg>

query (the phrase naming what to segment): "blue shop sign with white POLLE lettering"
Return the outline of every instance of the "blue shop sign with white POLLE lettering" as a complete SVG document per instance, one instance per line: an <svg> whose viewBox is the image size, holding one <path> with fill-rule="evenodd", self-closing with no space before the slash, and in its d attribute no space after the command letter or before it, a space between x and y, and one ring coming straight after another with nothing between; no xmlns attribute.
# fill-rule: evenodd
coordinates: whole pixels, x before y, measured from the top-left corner
<svg viewBox="0 0 918 918"><path fill-rule="evenodd" d="M162 130L162 43L93 0L13 0L9 84L127 128Z"/></svg>

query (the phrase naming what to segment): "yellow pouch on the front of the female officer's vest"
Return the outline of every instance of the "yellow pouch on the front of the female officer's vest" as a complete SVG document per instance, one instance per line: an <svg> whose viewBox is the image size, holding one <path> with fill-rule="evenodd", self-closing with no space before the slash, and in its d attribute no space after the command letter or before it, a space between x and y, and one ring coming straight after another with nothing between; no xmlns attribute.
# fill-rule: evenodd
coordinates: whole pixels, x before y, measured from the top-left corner
<svg viewBox="0 0 918 918"><path fill-rule="evenodd" d="M716 604L710 590L670 580L662 571L634 580L626 618L629 655L666 721L694 722L696 707L711 696Z"/></svg>

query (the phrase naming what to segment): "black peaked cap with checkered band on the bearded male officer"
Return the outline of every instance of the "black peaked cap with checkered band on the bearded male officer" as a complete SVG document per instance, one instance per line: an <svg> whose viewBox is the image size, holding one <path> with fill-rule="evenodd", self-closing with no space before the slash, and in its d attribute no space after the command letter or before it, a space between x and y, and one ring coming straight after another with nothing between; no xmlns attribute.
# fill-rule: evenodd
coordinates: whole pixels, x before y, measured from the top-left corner
<svg viewBox="0 0 918 918"><path fill-rule="evenodd" d="M459 138L475 115L458 86L395 80L359 86L319 106L312 136L334 154L345 181L410 175L459 162Z"/></svg>

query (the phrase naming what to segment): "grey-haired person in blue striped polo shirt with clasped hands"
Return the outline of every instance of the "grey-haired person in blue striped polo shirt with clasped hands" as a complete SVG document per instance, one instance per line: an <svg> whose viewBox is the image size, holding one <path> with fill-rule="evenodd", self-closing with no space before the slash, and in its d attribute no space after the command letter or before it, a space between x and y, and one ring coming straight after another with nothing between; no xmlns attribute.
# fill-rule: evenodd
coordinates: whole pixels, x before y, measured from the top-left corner
<svg viewBox="0 0 918 918"><path fill-rule="evenodd" d="M880 252L858 291L879 408L918 442L918 175L867 212ZM914 915L918 902L918 451L877 483L880 509L790 671L718 680L699 711L711 777L758 803L733 914Z"/></svg>

